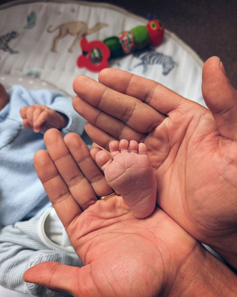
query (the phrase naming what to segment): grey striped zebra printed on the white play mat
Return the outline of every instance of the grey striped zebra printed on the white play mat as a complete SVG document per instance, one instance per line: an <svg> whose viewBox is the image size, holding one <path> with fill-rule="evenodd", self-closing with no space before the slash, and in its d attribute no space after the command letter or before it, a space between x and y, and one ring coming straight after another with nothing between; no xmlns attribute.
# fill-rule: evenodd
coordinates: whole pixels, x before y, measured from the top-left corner
<svg viewBox="0 0 237 297"><path fill-rule="evenodd" d="M145 52L135 52L133 53L133 56L140 59L141 62L136 64L134 68L138 66L143 66L143 74L147 72L149 65L161 65L162 66L162 74L168 75L169 72L177 66L177 63L173 61L171 56L164 55L162 53L158 53L154 50L149 50ZM132 70L132 69L130 69Z"/></svg>

